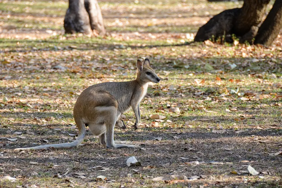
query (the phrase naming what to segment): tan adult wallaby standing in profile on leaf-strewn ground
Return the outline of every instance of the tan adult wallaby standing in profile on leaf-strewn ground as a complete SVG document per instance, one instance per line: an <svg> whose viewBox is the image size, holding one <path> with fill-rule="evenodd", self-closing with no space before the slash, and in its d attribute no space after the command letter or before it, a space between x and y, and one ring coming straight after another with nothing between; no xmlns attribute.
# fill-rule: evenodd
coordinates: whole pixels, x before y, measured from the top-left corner
<svg viewBox="0 0 282 188"><path fill-rule="evenodd" d="M146 58L144 62L138 59L135 80L95 84L80 94L73 108L73 117L78 127L78 137L75 141L17 148L15 151L76 147L85 137L85 126L89 127L93 135L99 136L99 144L110 148L140 148L138 145L130 145L128 141L114 141L114 127L120 126L119 117L131 106L136 117L134 128L138 128L141 118L139 103L147 92L148 83L159 81L160 78L150 67L149 59Z"/></svg>

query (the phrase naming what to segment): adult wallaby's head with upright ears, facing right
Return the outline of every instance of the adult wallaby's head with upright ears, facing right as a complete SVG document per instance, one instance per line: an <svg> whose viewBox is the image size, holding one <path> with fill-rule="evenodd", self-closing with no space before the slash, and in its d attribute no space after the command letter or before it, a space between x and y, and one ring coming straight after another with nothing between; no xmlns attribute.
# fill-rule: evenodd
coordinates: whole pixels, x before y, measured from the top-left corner
<svg viewBox="0 0 282 188"><path fill-rule="evenodd" d="M154 82L158 83L161 79L158 77L158 75L155 73L155 70L153 70L150 67L150 61L149 59L145 59L144 62L137 60L137 77L136 79L139 79L142 82Z"/></svg>

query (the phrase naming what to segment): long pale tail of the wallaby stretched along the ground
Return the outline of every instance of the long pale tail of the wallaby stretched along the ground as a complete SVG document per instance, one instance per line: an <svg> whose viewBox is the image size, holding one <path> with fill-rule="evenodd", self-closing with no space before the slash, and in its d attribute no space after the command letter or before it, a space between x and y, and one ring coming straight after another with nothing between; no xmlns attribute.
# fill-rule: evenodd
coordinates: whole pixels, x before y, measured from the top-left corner
<svg viewBox="0 0 282 188"><path fill-rule="evenodd" d="M15 151L21 152L21 151L29 151L29 150L43 150L46 148L64 149L64 148L77 147L83 141L85 137L86 129L85 129L85 125L83 122L80 122L79 124L77 123L76 125L78 127L78 137L73 142L63 143L63 144L48 144L48 145L26 147L26 148L16 148Z"/></svg>

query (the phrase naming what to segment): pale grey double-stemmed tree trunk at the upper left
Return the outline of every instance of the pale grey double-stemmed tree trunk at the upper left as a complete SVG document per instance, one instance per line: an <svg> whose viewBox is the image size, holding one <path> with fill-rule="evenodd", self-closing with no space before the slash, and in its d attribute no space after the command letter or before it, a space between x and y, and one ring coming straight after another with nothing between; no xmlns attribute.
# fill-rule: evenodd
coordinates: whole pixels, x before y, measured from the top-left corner
<svg viewBox="0 0 282 188"><path fill-rule="evenodd" d="M97 0L69 0L64 20L65 33L105 35L103 17Z"/></svg>

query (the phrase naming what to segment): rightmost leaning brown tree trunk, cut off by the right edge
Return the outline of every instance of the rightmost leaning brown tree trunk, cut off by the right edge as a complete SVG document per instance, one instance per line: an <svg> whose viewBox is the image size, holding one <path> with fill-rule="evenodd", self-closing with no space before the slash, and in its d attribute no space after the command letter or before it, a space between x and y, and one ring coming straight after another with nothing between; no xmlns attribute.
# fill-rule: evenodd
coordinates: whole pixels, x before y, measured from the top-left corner
<svg viewBox="0 0 282 188"><path fill-rule="evenodd" d="M255 38L255 44L260 43L266 46L271 45L281 28L282 0L276 0L266 19L259 28L258 34Z"/></svg>

